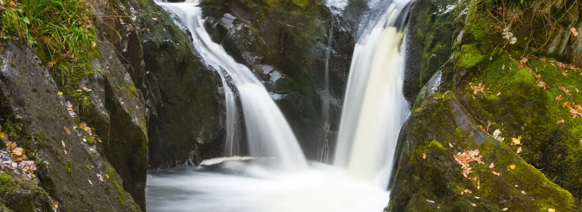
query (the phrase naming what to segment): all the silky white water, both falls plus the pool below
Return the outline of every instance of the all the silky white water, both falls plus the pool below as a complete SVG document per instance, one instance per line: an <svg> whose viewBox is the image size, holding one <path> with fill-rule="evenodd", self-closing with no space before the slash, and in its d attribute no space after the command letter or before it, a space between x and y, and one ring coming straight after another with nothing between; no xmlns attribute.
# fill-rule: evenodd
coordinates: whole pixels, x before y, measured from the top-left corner
<svg viewBox="0 0 582 212"><path fill-rule="evenodd" d="M402 27L395 27L401 24L398 17L409 2L396 0L384 8L360 35L333 166L304 159L293 132L261 82L211 41L201 9L196 6L198 1L158 2L186 24L202 58L232 77L253 157L208 160L201 163L201 168L149 174L147 210L382 211L389 200L386 188L396 138L409 114L402 95L400 51L404 33ZM226 81L223 87L228 89Z"/></svg>

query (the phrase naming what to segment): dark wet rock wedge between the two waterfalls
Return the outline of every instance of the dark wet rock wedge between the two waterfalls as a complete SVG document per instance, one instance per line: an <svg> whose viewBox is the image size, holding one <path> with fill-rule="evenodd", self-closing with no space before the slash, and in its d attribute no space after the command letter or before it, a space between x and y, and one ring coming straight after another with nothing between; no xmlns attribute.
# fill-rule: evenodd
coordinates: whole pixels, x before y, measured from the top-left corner
<svg viewBox="0 0 582 212"><path fill-rule="evenodd" d="M322 140L322 102L325 95L325 51L332 18L330 57L331 130L337 130L340 105L354 47L352 29L342 17L332 17L317 3L292 1L204 1L207 29L215 42L239 62L267 80L269 92L281 107L307 156L316 159ZM251 62L246 55L255 59ZM273 67L269 82L263 66ZM268 68L269 69L269 68ZM284 77L286 76L286 77ZM335 138L330 138L335 140Z"/></svg>

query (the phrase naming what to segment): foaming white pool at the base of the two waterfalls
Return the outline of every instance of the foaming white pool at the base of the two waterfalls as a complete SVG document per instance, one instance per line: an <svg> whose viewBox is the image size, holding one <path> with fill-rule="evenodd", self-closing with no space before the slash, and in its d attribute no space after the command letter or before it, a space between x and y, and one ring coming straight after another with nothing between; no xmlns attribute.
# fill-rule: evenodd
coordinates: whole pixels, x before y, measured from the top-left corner
<svg viewBox="0 0 582 212"><path fill-rule="evenodd" d="M293 173L241 164L237 170L244 175L195 170L150 174L147 210L365 212L382 211L389 199L385 189L325 164Z"/></svg>

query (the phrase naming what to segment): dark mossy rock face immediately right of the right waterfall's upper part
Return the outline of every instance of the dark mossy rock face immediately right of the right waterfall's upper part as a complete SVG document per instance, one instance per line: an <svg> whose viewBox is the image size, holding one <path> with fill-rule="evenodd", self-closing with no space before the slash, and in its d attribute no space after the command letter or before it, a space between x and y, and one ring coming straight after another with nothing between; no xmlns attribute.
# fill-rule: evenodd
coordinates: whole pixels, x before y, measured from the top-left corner
<svg viewBox="0 0 582 212"><path fill-rule="evenodd" d="M420 0L414 4L407 28L404 96L416 100L420 88L450 58L464 25L466 3Z"/></svg>

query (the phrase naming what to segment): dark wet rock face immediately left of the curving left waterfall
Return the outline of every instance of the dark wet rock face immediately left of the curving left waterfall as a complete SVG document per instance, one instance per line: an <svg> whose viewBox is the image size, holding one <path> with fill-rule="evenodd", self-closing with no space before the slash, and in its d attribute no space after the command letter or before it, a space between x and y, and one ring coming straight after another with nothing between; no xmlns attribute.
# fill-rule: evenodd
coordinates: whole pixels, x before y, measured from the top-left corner
<svg viewBox="0 0 582 212"><path fill-rule="evenodd" d="M148 167L191 166L221 156L225 107L218 74L201 62L176 17L153 1L119 5L115 11L128 16L112 20L123 32L115 48L145 99Z"/></svg>

